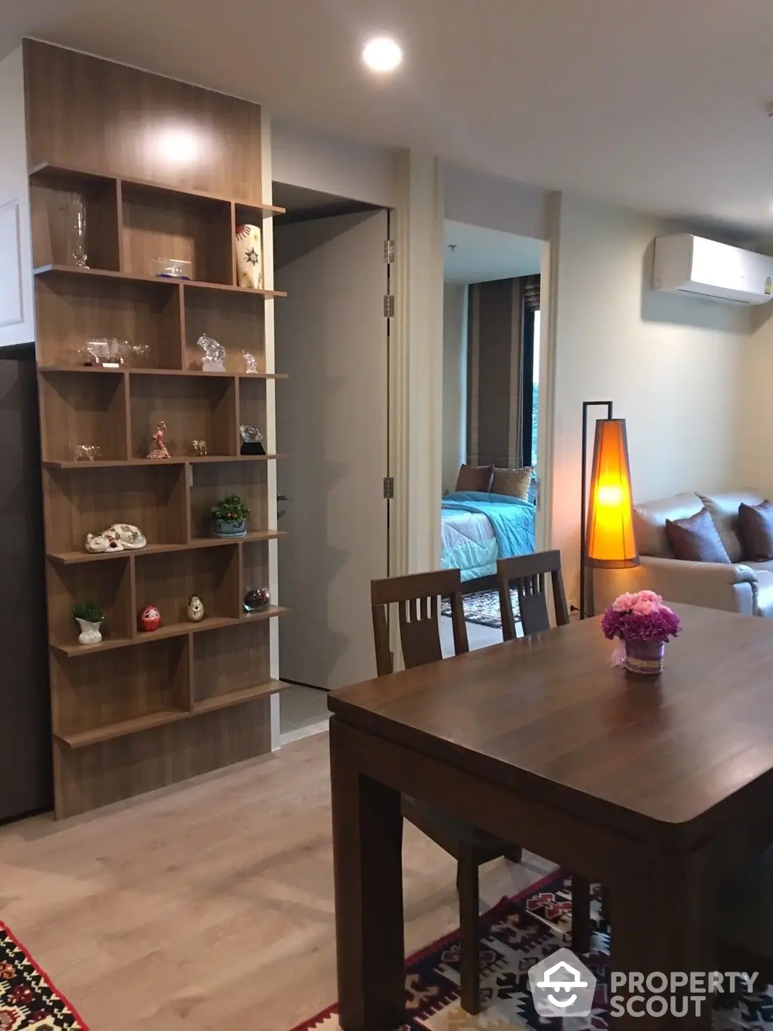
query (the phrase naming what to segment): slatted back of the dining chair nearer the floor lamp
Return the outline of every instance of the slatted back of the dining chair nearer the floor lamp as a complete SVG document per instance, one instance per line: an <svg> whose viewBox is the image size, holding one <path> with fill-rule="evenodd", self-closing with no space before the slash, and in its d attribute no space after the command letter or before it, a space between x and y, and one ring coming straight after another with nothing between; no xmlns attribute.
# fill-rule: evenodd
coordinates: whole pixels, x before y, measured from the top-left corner
<svg viewBox="0 0 773 1031"><path fill-rule="evenodd" d="M537 552L535 555L522 555L497 562L502 636L506 641L515 637L515 620L510 604L511 587L517 592L524 633L534 634L550 629L545 591L545 576L548 574L552 585L556 625L563 627L569 622L569 608L564 593L564 577L561 574L561 552Z"/></svg>

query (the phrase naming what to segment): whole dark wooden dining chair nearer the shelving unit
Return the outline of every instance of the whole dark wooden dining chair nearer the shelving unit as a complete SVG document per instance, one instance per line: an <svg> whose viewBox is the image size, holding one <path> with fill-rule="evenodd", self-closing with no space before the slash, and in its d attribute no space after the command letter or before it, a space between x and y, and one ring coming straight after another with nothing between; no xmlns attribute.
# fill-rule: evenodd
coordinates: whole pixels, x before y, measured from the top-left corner
<svg viewBox="0 0 773 1031"><path fill-rule="evenodd" d="M462 655L469 652L461 588L459 569L371 581L373 636L379 676L386 676L394 671L386 619L388 606L391 604L399 606L400 643L407 669L442 659L438 621L440 598L450 599L455 653ZM460 994L462 1006L467 1012L477 1013L480 1009L478 868L501 856L519 863L522 849L406 795L402 798L402 811L406 820L457 860L461 938ZM577 934L573 933L573 944L578 951L585 952L590 944L590 924L584 929L581 924L580 921Z"/></svg>

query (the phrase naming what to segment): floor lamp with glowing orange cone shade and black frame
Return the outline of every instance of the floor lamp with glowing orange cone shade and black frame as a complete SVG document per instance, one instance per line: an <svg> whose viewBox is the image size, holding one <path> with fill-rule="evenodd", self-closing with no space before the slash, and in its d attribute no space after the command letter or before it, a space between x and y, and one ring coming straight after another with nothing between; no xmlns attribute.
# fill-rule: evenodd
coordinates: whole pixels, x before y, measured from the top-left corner
<svg viewBox="0 0 773 1031"><path fill-rule="evenodd" d="M606 408L596 422L594 462L587 488L587 413ZM630 569L639 555L633 527L631 469L625 419L612 419L611 401L582 403L579 613L585 618L585 569Z"/></svg>

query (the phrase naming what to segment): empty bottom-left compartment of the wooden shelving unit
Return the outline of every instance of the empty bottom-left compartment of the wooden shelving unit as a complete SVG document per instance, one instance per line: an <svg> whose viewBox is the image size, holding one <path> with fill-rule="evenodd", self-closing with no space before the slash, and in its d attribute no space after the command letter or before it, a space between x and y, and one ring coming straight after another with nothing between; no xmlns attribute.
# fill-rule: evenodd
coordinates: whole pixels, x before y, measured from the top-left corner
<svg viewBox="0 0 773 1031"><path fill-rule="evenodd" d="M191 707L189 638L94 651L52 662L54 733L87 747L184 719Z"/></svg>

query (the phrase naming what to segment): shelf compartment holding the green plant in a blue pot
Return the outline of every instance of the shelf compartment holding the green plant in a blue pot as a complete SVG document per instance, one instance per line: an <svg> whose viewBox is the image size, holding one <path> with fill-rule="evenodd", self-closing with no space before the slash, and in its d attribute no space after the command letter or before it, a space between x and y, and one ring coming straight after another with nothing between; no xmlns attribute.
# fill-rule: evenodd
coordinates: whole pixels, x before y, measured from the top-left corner
<svg viewBox="0 0 773 1031"><path fill-rule="evenodd" d="M210 510L223 498L238 494L249 508L247 530L268 525L267 463L204 462L193 467L191 533L194 541L212 536Z"/></svg>

